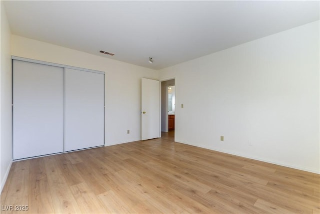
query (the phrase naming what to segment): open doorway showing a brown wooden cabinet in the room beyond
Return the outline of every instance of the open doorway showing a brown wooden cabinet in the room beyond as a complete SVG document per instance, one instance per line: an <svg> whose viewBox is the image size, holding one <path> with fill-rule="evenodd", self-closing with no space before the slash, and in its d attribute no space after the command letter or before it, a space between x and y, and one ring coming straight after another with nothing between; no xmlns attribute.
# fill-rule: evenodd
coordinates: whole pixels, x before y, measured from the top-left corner
<svg viewBox="0 0 320 214"><path fill-rule="evenodd" d="M171 79L161 82L161 132L171 132L174 135L174 129L175 83Z"/></svg>

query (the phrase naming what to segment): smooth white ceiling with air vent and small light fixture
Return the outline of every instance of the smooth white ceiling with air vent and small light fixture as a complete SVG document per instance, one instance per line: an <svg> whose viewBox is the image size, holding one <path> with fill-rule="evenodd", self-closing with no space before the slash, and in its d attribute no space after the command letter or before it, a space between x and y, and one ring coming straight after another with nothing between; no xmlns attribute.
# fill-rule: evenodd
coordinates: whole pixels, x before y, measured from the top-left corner
<svg viewBox="0 0 320 214"><path fill-rule="evenodd" d="M155 70L319 20L319 1L5 1L4 5L14 35Z"/></svg>

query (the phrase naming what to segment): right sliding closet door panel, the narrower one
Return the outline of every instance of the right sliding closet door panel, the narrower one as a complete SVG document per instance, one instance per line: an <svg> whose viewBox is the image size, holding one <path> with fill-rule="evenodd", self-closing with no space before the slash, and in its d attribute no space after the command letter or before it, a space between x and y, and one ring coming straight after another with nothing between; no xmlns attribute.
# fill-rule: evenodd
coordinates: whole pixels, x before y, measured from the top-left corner
<svg viewBox="0 0 320 214"><path fill-rule="evenodd" d="M104 74L65 69L64 149L104 145Z"/></svg>

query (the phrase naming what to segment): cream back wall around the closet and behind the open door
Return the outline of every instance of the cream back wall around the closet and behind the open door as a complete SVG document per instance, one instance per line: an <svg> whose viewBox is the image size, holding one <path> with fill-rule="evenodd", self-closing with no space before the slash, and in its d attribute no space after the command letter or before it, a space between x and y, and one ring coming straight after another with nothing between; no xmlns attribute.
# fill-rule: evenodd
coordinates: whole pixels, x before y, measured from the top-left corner
<svg viewBox="0 0 320 214"><path fill-rule="evenodd" d="M104 71L105 145L141 139L141 78L157 79L155 70L15 35L11 37L11 53L18 57Z"/></svg>

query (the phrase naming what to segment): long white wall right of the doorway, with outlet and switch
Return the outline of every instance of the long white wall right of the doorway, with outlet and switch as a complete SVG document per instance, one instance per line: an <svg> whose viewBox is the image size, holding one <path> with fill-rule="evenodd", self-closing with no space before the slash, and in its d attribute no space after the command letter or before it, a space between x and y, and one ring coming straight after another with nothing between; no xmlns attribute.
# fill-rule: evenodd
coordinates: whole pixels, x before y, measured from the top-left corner
<svg viewBox="0 0 320 214"><path fill-rule="evenodd" d="M176 141L320 173L319 63L317 21L162 69Z"/></svg>

